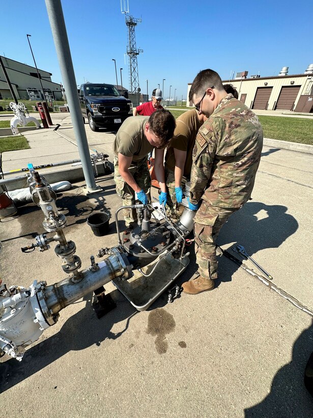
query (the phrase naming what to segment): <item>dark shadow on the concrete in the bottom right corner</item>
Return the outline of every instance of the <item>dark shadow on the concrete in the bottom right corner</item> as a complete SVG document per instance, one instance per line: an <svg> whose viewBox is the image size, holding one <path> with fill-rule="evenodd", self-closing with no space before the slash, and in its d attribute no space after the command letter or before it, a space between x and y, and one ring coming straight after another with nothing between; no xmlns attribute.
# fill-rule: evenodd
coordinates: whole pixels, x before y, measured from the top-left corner
<svg viewBox="0 0 313 418"><path fill-rule="evenodd" d="M292 360L274 376L269 395L259 404L244 410L246 418L313 416L313 398L303 380L305 365L312 351L312 341L313 325L296 339Z"/></svg>

